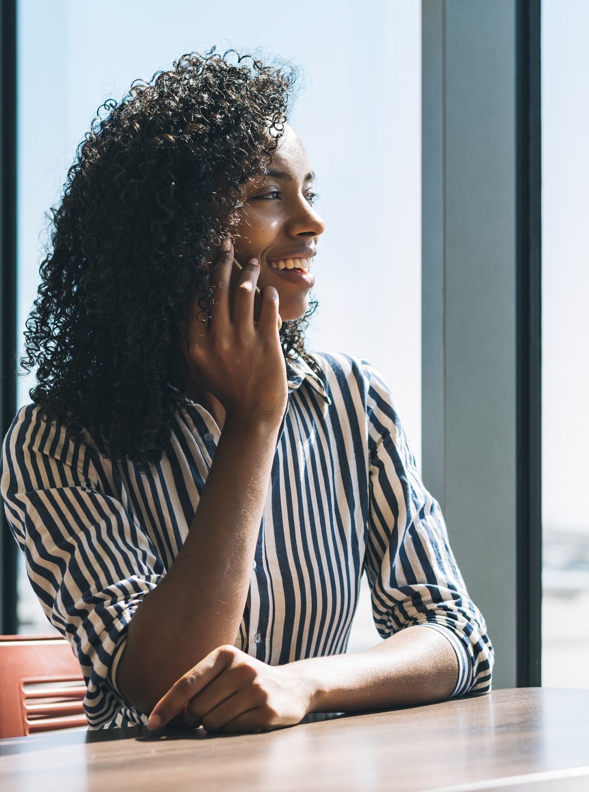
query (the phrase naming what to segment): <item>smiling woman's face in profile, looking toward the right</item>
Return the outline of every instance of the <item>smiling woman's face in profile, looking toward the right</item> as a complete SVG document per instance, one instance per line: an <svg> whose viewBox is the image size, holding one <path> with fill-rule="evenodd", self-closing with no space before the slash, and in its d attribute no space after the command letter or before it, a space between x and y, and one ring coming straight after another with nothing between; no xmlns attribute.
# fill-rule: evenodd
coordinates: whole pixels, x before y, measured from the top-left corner
<svg viewBox="0 0 589 792"><path fill-rule="evenodd" d="M310 263L325 223L312 206L313 173L293 128L286 126L268 175L251 181L244 190L234 240L235 258L244 265L256 257L260 262L258 287L276 288L281 318L300 318L307 310L315 276L296 267L282 267L289 260L300 261L303 268L302 259Z"/></svg>

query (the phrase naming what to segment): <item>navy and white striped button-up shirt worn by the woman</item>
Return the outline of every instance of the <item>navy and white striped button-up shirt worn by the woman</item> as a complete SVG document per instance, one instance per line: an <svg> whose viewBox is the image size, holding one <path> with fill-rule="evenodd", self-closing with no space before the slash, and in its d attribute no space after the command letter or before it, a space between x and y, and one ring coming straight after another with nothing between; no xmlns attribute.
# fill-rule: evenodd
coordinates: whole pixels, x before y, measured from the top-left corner
<svg viewBox="0 0 589 792"><path fill-rule="evenodd" d="M383 638L438 630L458 659L453 695L488 691L484 619L388 386L365 360L314 358L321 377L287 359L289 403L235 645L273 665L346 652L366 573ZM161 462L142 475L101 454L87 432L75 441L41 421L33 404L6 435L6 515L45 614L80 662L90 728L147 722L120 693L117 664L136 607L185 541L219 436L186 398Z"/></svg>

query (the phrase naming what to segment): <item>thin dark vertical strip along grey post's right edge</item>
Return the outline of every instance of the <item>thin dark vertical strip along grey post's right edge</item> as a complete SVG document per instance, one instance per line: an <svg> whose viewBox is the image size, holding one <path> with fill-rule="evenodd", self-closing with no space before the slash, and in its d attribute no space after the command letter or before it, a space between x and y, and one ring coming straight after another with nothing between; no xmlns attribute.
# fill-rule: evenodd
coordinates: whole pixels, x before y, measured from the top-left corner
<svg viewBox="0 0 589 792"><path fill-rule="evenodd" d="M540 0L517 0L517 683L541 684Z"/></svg>

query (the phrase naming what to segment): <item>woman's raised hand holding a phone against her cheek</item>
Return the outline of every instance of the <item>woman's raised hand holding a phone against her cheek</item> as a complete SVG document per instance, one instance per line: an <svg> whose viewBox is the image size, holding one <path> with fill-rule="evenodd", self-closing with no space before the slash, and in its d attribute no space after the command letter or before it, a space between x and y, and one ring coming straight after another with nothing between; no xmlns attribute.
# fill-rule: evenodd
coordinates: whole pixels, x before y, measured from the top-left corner
<svg viewBox="0 0 589 792"><path fill-rule="evenodd" d="M233 244L220 246L209 285L212 305L208 325L201 318L198 297L181 321L182 351L188 376L223 405L228 418L280 422L288 399L286 366L278 334L278 292L262 290L262 309L254 322L254 291L260 266L252 258L243 266L235 289L234 318L229 306Z"/></svg>

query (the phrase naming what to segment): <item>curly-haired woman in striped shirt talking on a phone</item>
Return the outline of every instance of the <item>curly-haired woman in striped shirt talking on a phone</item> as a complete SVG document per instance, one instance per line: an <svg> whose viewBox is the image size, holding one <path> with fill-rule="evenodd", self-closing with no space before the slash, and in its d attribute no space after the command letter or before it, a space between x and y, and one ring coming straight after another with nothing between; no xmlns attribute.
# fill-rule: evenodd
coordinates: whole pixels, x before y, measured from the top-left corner
<svg viewBox="0 0 589 792"><path fill-rule="evenodd" d="M488 691L484 619L392 394L304 348L324 223L285 123L295 75L228 54L109 103L68 173L27 325L38 384L2 452L33 588L91 728ZM364 571L385 640L346 654Z"/></svg>

